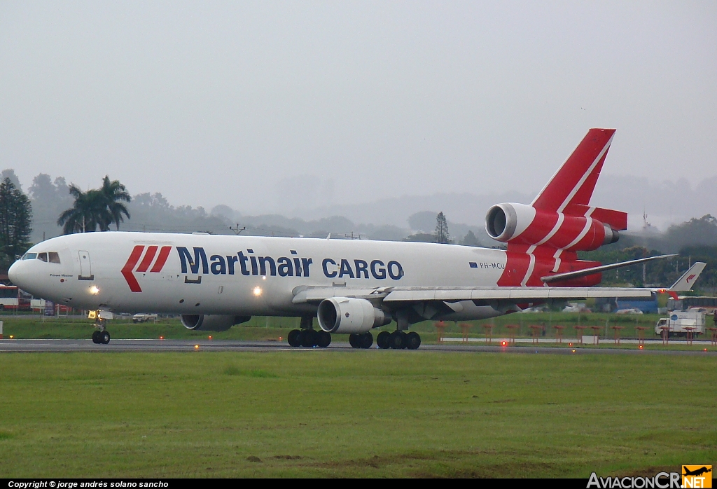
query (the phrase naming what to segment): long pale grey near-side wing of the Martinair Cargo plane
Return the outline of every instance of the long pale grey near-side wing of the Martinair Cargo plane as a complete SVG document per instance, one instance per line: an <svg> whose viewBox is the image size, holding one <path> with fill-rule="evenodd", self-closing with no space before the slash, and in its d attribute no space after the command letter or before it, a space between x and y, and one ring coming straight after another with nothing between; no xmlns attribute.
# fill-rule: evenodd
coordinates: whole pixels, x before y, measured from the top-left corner
<svg viewBox="0 0 717 489"><path fill-rule="evenodd" d="M546 300L574 300L587 298L641 298L651 297L652 289L609 287L380 287L380 288L296 288L293 303L320 303L332 297L374 299L384 303L417 303L460 300L504 301L508 303L534 303Z"/></svg>

